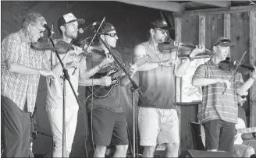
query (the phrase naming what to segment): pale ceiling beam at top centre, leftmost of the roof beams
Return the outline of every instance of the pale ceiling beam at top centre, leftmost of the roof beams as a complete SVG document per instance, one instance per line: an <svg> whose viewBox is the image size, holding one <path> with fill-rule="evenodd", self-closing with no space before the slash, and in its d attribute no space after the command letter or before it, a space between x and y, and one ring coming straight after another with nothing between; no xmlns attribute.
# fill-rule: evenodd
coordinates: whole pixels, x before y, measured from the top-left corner
<svg viewBox="0 0 256 158"><path fill-rule="evenodd" d="M182 12L185 10L185 6L176 2L166 2L166 1L126 1L119 0L118 2L124 2L131 5L140 5L152 9L160 9L169 12Z"/></svg>

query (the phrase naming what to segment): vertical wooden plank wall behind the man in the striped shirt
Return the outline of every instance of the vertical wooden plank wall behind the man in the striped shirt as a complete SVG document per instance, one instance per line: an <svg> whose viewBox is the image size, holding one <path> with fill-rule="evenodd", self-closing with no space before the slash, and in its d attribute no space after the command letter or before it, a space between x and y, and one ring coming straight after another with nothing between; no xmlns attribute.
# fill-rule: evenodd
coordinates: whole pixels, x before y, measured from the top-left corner
<svg viewBox="0 0 256 158"><path fill-rule="evenodd" d="M177 18L177 17L176 17ZM255 21L255 13L251 16L251 19ZM204 23L205 21L205 23ZM226 36L229 37L235 44L236 47L231 49L230 56L236 61L239 61L242 57L244 51L249 49L249 40L250 40L250 22L249 15L247 12L232 13L232 14L215 14L209 16L183 16L181 17L181 42L187 44L205 44L205 47L211 47L211 42L216 37ZM200 28L200 30L199 30ZM255 34L255 22L251 26L251 31ZM204 33L201 29L205 29ZM177 31L177 30L176 30ZM176 33L177 34L177 33ZM255 35L251 35L255 36ZM254 37L255 43L255 37ZM254 49L255 44L251 44ZM255 52L254 58L251 59L251 62L255 62ZM251 54L253 52L251 51ZM244 63L249 63L249 50L246 56L244 57ZM248 75L243 76L244 81L248 79ZM180 86L179 86L180 87ZM178 89L179 87L176 86ZM179 91L179 90L177 90ZM255 104L255 84L254 88L251 89L251 106ZM180 96L179 96L180 97ZM247 98L249 100L249 97ZM254 106L255 107L255 106ZM189 109L187 109L189 108ZM250 116L249 101L244 104L244 109L247 114L247 118ZM194 121L194 117L197 116L197 107L186 105L179 106L180 111L180 150L184 149L193 149L193 144L190 136L190 128L188 127L187 122ZM255 110L251 111L251 115L255 115ZM255 120L255 118L254 118ZM249 122L249 121L248 121ZM254 126L255 126L254 121ZM251 124L252 125L252 124Z"/></svg>

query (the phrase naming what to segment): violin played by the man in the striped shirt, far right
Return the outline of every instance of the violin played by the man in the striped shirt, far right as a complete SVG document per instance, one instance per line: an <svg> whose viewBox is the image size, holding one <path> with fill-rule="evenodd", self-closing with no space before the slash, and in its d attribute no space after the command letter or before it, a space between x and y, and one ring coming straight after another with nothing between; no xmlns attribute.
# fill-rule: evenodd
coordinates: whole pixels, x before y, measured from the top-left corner
<svg viewBox="0 0 256 158"><path fill-rule="evenodd" d="M227 57L224 61L219 62L219 69L222 71L232 71L235 70L237 67L237 72L240 72L243 75L248 75L250 72L254 71L254 67L249 64L236 64L237 61L235 61L233 58Z"/></svg>

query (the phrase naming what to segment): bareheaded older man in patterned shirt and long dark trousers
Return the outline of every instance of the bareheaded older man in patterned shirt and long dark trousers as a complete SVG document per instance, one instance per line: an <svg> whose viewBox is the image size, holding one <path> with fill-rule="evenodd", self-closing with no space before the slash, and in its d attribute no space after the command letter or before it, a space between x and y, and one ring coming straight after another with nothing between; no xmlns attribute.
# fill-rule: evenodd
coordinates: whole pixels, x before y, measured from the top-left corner
<svg viewBox="0 0 256 158"><path fill-rule="evenodd" d="M55 79L47 70L48 60L30 48L43 37L46 21L32 12L21 29L2 40L1 107L3 114L3 157L28 157L30 153L30 113L34 112L40 75Z"/></svg>

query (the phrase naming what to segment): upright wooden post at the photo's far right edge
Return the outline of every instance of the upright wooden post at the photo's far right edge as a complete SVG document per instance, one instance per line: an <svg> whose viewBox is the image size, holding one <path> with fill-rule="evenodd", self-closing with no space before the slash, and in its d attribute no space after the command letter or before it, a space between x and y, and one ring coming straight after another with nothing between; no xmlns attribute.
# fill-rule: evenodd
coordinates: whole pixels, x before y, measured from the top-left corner
<svg viewBox="0 0 256 158"><path fill-rule="evenodd" d="M256 12L250 12L250 64L256 64ZM250 127L256 127L256 82L250 89Z"/></svg>

